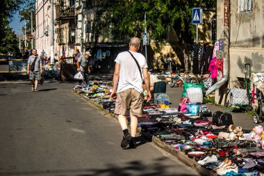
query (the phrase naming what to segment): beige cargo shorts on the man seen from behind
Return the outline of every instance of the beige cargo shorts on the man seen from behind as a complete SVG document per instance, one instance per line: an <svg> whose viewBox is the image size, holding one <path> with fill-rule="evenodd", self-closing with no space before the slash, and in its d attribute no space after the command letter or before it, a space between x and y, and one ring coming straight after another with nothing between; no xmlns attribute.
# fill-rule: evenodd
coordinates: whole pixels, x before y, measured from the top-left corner
<svg viewBox="0 0 264 176"><path fill-rule="evenodd" d="M133 88L126 89L121 93L117 93L115 102L115 114L126 115L126 110L129 108L132 115L142 115L143 109L143 94Z"/></svg>

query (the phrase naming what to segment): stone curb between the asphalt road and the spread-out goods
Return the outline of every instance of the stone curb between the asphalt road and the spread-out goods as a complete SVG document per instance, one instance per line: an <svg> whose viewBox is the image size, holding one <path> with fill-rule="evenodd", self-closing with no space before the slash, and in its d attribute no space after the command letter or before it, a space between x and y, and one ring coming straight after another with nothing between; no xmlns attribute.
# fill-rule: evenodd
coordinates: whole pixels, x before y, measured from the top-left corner
<svg viewBox="0 0 264 176"><path fill-rule="evenodd" d="M72 92L75 93L74 91L72 91ZM79 95L79 97L82 97L81 94L78 94L78 93L75 93L75 94ZM84 99L90 105L92 105L95 108L97 108L99 111L103 111L105 113L104 115L107 115L107 116L109 115L110 117L115 118L116 120L118 120L118 118L117 118L117 116L115 114L110 113L106 109L101 109L101 106L99 106L96 102L92 101L92 99L85 99L83 97L82 97L82 99ZM140 133L141 132L141 128L138 128L137 131L138 131L138 133ZM167 145L163 141L160 141L159 138L157 138L156 136L152 137L152 143L158 145L158 147L160 147L163 150L165 150L165 152L168 152L168 153L172 154L179 161L185 163L186 166L189 166L190 168L195 169L197 171L197 173L199 173L200 175L217 176L217 173L214 173L211 170L207 170L206 168L201 167L201 165L199 165L199 163L197 163L197 161L195 161L195 159L189 158L187 156L187 154L184 154L181 151L174 150L174 148L172 148L170 145Z"/></svg>

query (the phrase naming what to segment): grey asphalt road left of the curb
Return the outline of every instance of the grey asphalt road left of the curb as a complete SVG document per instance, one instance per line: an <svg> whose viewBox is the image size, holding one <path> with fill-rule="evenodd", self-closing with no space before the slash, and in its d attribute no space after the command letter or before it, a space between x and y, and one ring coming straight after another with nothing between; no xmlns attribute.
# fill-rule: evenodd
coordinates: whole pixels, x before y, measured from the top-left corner
<svg viewBox="0 0 264 176"><path fill-rule="evenodd" d="M170 154L122 150L122 130L71 92L73 83L0 82L0 175L198 175Z"/></svg>

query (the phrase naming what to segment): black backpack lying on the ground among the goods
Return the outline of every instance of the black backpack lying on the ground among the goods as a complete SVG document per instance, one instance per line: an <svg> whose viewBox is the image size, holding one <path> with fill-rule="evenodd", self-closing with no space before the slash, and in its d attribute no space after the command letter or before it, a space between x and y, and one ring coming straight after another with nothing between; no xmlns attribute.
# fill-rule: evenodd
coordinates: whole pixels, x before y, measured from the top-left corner
<svg viewBox="0 0 264 176"><path fill-rule="evenodd" d="M233 125L232 115L230 113L223 113L221 111L216 111L213 113L213 125L226 126Z"/></svg>

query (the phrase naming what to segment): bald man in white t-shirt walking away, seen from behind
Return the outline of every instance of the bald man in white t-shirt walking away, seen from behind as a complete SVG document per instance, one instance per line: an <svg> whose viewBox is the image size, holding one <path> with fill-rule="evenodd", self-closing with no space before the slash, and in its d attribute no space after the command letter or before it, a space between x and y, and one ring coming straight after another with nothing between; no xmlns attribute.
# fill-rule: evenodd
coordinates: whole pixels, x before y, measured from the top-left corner
<svg viewBox="0 0 264 176"><path fill-rule="evenodd" d="M144 79L147 87L147 102L151 99L149 90L149 74L147 72L146 58L138 53L140 39L131 38L129 51L121 52L115 58L115 72L113 77L113 92L111 98L115 99L115 114L118 115L119 124L122 127L124 137L121 147L135 147L135 135L138 128L138 115L143 109L143 89ZM134 57L134 58L133 58ZM138 62L135 62L135 60ZM118 86L117 86L118 82ZM126 122L126 110L130 109L131 134Z"/></svg>

